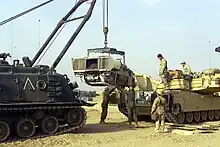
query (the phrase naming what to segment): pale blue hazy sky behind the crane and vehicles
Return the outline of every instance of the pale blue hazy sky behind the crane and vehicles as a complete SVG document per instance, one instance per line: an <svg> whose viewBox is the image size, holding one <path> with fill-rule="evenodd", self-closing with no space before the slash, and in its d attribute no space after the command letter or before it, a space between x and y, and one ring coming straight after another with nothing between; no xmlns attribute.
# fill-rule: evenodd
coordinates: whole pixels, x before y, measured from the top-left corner
<svg viewBox="0 0 220 147"><path fill-rule="evenodd" d="M44 1L2 1L0 20ZM71 80L77 80L82 89L88 86L73 76L71 58L85 56L87 48L103 47L101 2L97 0L91 19L57 67ZM55 0L1 26L0 51L12 51L18 59L23 55L32 58L39 49L39 32L42 44L74 3L75 0ZM74 16L84 14L88 7L84 5ZM158 53L168 60L169 69L180 68L180 62L186 61L193 71L201 71L209 68L209 57L210 67L219 68L220 54L214 51L220 45L219 5L219 0L110 0L109 46L126 51L126 61L132 70L155 78L158 77ZM77 24L66 25L41 64L53 63Z"/></svg>

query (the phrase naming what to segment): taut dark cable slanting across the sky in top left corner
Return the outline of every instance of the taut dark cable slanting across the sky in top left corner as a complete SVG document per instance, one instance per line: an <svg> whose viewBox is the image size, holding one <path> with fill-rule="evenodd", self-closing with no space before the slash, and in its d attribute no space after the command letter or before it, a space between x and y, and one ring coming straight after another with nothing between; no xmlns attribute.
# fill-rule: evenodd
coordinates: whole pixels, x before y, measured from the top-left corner
<svg viewBox="0 0 220 147"><path fill-rule="evenodd" d="M6 23L8 23L8 22L10 22L10 21L12 21L12 20L22 16L22 15L25 15L25 14L33 11L33 10L36 10L36 9L38 9L38 8L44 6L44 5L46 5L46 4L48 4L48 3L52 2L52 1L54 1L54 0L48 0L48 1L44 2L44 3L41 3L40 5L37 5L37 6L33 7L33 8L31 8L31 9L28 9L28 10L22 12L22 13L19 13L19 14L15 15L15 16L12 16L12 17L10 17L10 18L0 22L0 26L2 26L4 24L6 24Z"/></svg>

